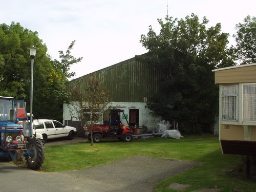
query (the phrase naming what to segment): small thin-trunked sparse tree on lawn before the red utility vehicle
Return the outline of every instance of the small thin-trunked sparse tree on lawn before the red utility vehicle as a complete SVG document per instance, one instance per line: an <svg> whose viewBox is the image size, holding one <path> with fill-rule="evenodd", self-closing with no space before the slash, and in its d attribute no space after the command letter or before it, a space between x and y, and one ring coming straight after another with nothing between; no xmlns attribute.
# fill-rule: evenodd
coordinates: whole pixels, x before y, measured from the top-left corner
<svg viewBox="0 0 256 192"><path fill-rule="evenodd" d="M93 146L92 127L102 120L106 113L106 107L111 101L112 95L106 90L101 79L95 76L87 78L84 88L74 87L71 91L69 113L72 117L79 119L82 125L88 127Z"/></svg>

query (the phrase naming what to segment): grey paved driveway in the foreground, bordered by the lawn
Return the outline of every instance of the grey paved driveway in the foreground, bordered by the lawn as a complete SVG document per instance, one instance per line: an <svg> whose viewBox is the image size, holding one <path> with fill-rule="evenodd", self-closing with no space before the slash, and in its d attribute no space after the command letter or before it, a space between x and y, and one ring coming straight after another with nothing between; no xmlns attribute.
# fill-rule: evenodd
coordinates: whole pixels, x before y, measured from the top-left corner
<svg viewBox="0 0 256 192"><path fill-rule="evenodd" d="M135 156L92 168L64 172L36 172L0 162L0 192L19 191L153 191L156 183L180 174L199 162Z"/></svg>

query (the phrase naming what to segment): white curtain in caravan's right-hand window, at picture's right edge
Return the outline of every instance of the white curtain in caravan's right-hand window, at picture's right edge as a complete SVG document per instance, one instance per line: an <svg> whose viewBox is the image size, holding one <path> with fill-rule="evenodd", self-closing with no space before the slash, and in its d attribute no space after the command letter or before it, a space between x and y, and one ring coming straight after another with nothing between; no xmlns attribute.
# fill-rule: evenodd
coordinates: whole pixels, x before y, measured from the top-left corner
<svg viewBox="0 0 256 192"><path fill-rule="evenodd" d="M243 120L256 120L256 83L243 84Z"/></svg>

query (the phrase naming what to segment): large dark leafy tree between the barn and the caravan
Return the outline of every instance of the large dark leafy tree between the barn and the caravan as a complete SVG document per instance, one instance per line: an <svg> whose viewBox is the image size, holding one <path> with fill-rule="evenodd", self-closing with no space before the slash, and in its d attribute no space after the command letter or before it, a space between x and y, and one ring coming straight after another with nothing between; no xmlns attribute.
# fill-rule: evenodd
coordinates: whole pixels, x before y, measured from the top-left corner
<svg viewBox="0 0 256 192"><path fill-rule="evenodd" d="M221 25L206 28L191 14L178 20L166 16L159 35L150 26L140 42L148 50L143 59L166 72L159 92L147 108L165 120L179 122L181 130L209 131L218 114L218 87L212 70L233 66L233 50L227 48L229 34Z"/></svg>

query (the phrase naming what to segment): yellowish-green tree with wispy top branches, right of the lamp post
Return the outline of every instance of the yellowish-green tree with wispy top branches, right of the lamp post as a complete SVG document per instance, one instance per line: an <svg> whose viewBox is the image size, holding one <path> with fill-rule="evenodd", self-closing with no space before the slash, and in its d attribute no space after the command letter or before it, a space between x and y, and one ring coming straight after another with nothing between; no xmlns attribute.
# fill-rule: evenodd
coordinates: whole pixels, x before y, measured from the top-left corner
<svg viewBox="0 0 256 192"><path fill-rule="evenodd" d="M71 55L74 44L75 41L72 41L66 52L59 51L60 61L51 60L51 68L44 71L44 77L37 78L35 99L38 102L34 108L37 117L62 119L63 103L69 99L66 82L75 75L69 71L70 66L82 60L82 57L74 58Z"/></svg>

